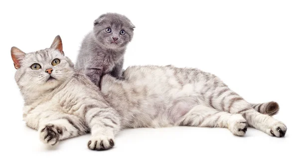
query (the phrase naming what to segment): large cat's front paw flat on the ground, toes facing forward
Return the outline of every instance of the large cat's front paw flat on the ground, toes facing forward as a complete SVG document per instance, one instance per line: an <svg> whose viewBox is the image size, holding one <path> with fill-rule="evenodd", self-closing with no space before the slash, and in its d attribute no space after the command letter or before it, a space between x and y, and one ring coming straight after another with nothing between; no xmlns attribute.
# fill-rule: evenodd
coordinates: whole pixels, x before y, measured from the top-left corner
<svg viewBox="0 0 299 160"><path fill-rule="evenodd" d="M87 146L90 150L109 150L114 146L114 139L108 136L93 136Z"/></svg>

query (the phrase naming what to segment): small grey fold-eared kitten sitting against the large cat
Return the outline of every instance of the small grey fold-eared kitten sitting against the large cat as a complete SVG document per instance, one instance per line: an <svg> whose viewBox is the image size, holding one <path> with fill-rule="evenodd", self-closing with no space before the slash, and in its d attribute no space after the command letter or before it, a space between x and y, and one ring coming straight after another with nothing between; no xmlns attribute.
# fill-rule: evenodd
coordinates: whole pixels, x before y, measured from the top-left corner
<svg viewBox="0 0 299 160"><path fill-rule="evenodd" d="M93 31L82 42L75 68L82 68L84 74L98 86L101 76L106 73L122 79L124 54L133 38L134 28L124 15L101 15L94 21Z"/></svg>

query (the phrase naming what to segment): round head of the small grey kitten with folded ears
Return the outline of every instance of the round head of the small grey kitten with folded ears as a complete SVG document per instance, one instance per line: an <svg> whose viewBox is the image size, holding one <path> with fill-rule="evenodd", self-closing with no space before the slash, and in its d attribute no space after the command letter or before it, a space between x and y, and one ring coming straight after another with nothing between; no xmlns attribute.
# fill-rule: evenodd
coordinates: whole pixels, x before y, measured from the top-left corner
<svg viewBox="0 0 299 160"><path fill-rule="evenodd" d="M94 21L96 40L111 49L125 47L133 38L134 28L130 19L118 13L103 14Z"/></svg>

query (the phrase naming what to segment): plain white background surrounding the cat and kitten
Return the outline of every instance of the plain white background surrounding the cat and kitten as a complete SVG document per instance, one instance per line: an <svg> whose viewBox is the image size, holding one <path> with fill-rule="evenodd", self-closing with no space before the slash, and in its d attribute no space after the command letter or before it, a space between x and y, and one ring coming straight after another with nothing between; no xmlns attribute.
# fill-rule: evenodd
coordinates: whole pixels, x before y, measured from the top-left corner
<svg viewBox="0 0 299 160"><path fill-rule="evenodd" d="M94 19L106 12L125 14L136 25L124 68L173 64L212 72L249 102L277 101L275 118L287 125L286 137L255 129L236 137L220 128L144 128L121 132L110 151L89 151L89 135L46 148L22 122L10 47L44 49L59 34L65 55L75 61ZM6 0L0 4L0 54L1 160L298 160L298 0Z"/></svg>

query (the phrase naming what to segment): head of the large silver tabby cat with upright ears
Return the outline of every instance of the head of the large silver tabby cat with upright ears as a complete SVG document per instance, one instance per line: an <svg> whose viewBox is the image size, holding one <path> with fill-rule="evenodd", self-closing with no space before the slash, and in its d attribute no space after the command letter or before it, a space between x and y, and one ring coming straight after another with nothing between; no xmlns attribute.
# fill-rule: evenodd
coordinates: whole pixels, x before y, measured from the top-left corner
<svg viewBox="0 0 299 160"><path fill-rule="evenodd" d="M46 91L68 80L74 73L74 64L64 56L62 41L57 35L50 48L24 53L11 47L15 81L20 89Z"/></svg>

